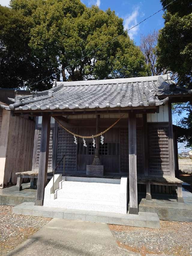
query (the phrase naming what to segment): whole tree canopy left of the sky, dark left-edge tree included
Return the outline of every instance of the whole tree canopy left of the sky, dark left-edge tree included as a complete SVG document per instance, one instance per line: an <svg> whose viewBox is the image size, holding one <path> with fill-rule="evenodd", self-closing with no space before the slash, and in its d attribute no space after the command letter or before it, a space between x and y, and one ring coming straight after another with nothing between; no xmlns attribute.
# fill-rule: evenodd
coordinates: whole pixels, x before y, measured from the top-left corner
<svg viewBox="0 0 192 256"><path fill-rule="evenodd" d="M0 65L7 75L0 71L0 87L42 90L53 78L150 75L139 47L124 33L123 20L110 9L87 8L80 0L11 0L10 7L1 7ZM52 75L60 69L62 74ZM52 76L31 86L47 75Z"/></svg>

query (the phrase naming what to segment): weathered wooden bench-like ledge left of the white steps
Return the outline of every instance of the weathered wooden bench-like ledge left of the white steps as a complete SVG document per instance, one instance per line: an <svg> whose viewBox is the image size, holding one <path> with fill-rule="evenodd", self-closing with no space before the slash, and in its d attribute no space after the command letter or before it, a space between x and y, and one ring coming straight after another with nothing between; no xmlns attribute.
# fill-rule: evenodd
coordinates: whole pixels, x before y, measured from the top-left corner
<svg viewBox="0 0 192 256"><path fill-rule="evenodd" d="M38 170L16 173L16 175L17 175L16 189L21 191L22 190L22 185L21 185L22 178L30 178L31 179L30 188L34 187L34 179L38 178ZM47 179L51 179L52 175L53 175L53 171L52 170L47 170Z"/></svg>

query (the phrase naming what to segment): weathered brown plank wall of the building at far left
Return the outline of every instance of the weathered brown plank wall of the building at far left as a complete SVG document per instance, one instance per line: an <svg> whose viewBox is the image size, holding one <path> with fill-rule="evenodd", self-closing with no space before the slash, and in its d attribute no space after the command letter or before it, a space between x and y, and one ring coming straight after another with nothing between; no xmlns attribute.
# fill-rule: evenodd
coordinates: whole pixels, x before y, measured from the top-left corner
<svg viewBox="0 0 192 256"><path fill-rule="evenodd" d="M32 170L32 154L35 122L29 117L11 116L9 119L6 161L4 166L4 186L16 183L16 172Z"/></svg>

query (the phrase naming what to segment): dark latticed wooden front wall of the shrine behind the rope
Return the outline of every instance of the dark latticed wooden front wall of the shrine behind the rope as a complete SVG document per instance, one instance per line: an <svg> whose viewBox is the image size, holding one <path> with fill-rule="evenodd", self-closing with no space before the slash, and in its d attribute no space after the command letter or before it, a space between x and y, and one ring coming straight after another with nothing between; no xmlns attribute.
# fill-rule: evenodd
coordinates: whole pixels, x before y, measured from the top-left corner
<svg viewBox="0 0 192 256"><path fill-rule="evenodd" d="M117 119L99 119L99 131L104 131ZM144 150L148 151L147 165L149 171L145 175L172 175L170 171L170 146L169 146L169 125L168 122L149 122L147 130L143 131L143 118L137 117L137 173L144 175ZM69 119L63 123L70 131L81 135L95 134L94 118L90 119ZM38 128L41 130L41 128ZM77 137L77 145L74 143L72 134L65 131L60 125L57 134L50 134L49 143L49 168L52 161L52 143L55 145L55 162L58 163L65 154L65 171L86 171L86 165L92 164L94 148L92 139L86 139L87 147L83 146L82 138ZM146 137L146 140L144 139ZM54 138L54 139L53 139ZM36 151L36 168L38 169L38 149L40 146L41 133L38 134ZM146 141L146 142L145 142ZM147 143L147 146L144 144ZM128 118L123 118L115 127L104 134L104 145L100 144L100 159L104 164L107 173L128 173ZM55 166L54 166L55 167ZM63 172L63 162L57 169Z"/></svg>

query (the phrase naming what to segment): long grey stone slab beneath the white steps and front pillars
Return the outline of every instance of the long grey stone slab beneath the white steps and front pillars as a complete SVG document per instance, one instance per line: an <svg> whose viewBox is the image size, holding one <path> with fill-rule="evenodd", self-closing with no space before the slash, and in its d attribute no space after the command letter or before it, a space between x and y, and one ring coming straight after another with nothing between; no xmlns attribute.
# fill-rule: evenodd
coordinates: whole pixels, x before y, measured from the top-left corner
<svg viewBox="0 0 192 256"><path fill-rule="evenodd" d="M157 213L151 212L139 212L138 215L116 214L110 212L81 211L74 209L34 206L34 203L22 203L13 207L13 213L45 218L80 220L133 227L160 228Z"/></svg>

